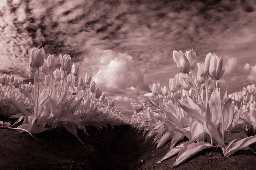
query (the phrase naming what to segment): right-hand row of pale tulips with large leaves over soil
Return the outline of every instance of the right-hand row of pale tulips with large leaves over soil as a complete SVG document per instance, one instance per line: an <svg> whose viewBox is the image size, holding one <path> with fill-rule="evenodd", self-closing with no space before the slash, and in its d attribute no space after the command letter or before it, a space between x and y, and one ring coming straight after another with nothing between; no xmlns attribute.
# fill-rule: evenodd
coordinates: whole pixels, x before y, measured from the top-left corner
<svg viewBox="0 0 256 170"><path fill-rule="evenodd" d="M131 103L135 112L130 124L143 130L145 141L154 137L159 148L171 140L170 151L158 163L178 154L175 167L206 148L220 147L225 157L251 149L256 136L244 131L256 129L255 85L230 96L226 91L221 98L223 57L209 53L204 63L197 63L194 50L173 51L173 60L181 73L170 78L169 88L151 84L151 93ZM188 141L176 146L184 137Z"/></svg>

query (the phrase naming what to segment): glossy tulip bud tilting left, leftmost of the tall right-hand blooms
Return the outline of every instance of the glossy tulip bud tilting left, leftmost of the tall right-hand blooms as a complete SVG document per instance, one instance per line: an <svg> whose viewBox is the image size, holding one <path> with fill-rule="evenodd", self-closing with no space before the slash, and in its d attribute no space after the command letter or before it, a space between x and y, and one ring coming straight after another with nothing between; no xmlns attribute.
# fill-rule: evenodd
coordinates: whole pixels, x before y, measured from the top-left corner
<svg viewBox="0 0 256 170"><path fill-rule="evenodd" d="M190 64L184 53L182 51L173 51L172 57L180 72L186 74L190 71Z"/></svg>

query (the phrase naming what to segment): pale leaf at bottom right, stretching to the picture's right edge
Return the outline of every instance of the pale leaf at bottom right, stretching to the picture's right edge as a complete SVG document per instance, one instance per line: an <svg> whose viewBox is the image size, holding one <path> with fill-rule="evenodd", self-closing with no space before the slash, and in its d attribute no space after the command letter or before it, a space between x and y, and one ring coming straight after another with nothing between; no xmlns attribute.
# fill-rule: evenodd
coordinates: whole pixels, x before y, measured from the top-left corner
<svg viewBox="0 0 256 170"><path fill-rule="evenodd" d="M234 139L234 140L236 140L236 139ZM237 152L238 150L246 148L253 143L256 143L256 136L250 136L250 137L247 137L244 139L240 139L240 140L236 141L235 143L230 142L229 145L232 145L232 147L226 148L224 156L228 157L228 156L232 155L233 153Z"/></svg>

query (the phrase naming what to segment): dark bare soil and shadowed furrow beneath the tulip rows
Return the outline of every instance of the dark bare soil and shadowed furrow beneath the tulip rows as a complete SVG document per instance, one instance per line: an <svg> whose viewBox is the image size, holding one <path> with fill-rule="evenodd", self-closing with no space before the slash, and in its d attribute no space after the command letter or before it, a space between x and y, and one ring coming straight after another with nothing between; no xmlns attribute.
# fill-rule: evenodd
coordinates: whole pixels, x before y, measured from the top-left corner
<svg viewBox="0 0 256 170"><path fill-rule="evenodd" d="M1 120L1 117L0 117ZM0 169L85 169L85 170L165 170L171 169L176 156L157 164L168 151L170 142L156 150L153 138L144 143L142 132L129 125L104 129L87 128L90 136L79 131L85 144L81 144L66 129L49 129L34 134L0 129ZM256 145L250 146L256 151ZM173 168L183 169L256 169L256 154L238 151L224 158L222 152L204 150L184 164Z"/></svg>

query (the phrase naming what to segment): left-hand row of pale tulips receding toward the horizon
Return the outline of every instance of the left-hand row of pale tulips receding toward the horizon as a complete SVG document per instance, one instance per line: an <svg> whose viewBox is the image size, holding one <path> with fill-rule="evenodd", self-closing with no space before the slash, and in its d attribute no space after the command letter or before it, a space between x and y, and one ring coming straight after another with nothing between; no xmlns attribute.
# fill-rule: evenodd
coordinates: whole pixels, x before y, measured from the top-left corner
<svg viewBox="0 0 256 170"><path fill-rule="evenodd" d="M97 87L90 74L85 78L79 76L79 65L71 65L71 57L60 55L60 69L55 67L54 56L44 59L43 48L29 49L30 66L28 75L34 79L31 83L23 84L22 78L14 75L3 75L0 78L1 114L16 118L14 124L2 128L33 133L40 133L48 128L64 127L81 142L77 129L86 133L86 126L97 129L128 124L120 110L115 108L113 100L108 100L101 89ZM48 74L48 71L51 74ZM40 80L39 72L44 75ZM16 88L15 88L16 87ZM18 87L18 88L17 88ZM13 128L22 121L22 125Z"/></svg>

